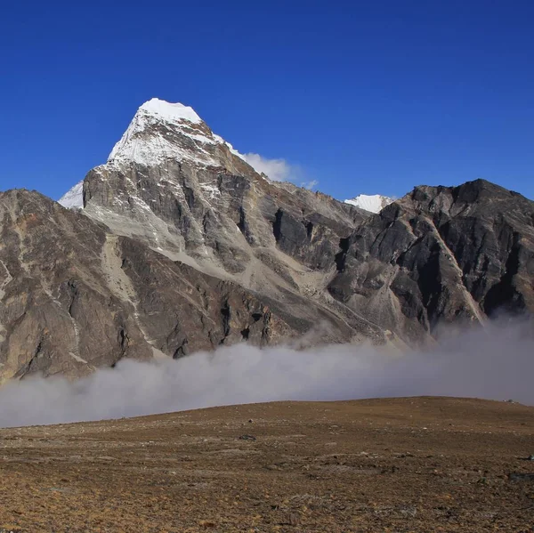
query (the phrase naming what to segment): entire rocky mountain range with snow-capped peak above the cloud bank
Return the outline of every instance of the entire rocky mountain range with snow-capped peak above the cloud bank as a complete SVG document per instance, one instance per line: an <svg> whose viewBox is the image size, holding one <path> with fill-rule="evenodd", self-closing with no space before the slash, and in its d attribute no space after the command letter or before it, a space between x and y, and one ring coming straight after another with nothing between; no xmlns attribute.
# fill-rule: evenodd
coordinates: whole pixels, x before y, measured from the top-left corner
<svg viewBox="0 0 534 533"><path fill-rule="evenodd" d="M148 101L61 198L0 193L0 379L83 376L221 344L433 343L534 309L534 203L489 182L378 214L258 174Z"/></svg>

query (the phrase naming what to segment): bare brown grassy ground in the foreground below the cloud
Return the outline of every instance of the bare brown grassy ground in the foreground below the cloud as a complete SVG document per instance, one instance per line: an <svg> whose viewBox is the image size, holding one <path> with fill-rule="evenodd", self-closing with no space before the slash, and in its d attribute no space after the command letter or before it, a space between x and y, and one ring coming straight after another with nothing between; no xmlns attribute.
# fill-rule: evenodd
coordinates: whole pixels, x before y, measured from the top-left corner
<svg viewBox="0 0 534 533"><path fill-rule="evenodd" d="M534 481L508 478L534 472L534 408L512 403L212 408L0 430L0 447L0 531L534 530Z"/></svg>

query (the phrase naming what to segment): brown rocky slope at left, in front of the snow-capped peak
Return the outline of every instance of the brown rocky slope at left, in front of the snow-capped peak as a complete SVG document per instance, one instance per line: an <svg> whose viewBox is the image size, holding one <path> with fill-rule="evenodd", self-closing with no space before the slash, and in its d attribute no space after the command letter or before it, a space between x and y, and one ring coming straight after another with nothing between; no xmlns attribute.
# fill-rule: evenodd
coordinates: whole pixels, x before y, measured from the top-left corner
<svg viewBox="0 0 534 533"><path fill-rule="evenodd" d="M313 303L282 307L36 192L0 193L0 221L1 380L82 376L123 357L181 357L243 340L277 343L321 319L330 342L353 335Z"/></svg>

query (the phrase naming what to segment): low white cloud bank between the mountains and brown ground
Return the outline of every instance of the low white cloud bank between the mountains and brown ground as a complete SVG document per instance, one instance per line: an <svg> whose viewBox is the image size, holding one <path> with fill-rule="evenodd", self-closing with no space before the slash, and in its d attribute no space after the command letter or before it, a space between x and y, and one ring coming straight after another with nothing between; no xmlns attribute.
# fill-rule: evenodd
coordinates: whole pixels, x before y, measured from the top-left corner
<svg viewBox="0 0 534 533"><path fill-rule="evenodd" d="M77 382L28 378L0 388L0 426L140 416L272 400L446 395L534 404L534 340L523 325L450 335L433 351L370 346L297 351L247 344L183 359L123 360Z"/></svg>

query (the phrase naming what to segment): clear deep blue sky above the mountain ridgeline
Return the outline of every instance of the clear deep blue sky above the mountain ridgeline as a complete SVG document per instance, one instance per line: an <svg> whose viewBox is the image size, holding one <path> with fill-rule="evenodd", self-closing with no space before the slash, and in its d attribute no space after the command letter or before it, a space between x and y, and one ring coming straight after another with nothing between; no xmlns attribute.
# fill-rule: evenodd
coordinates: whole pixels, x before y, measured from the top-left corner
<svg viewBox="0 0 534 533"><path fill-rule="evenodd" d="M534 198L532 0L4 4L0 190L59 198L156 96L336 198Z"/></svg>

